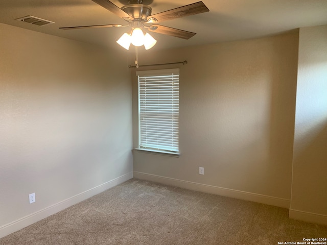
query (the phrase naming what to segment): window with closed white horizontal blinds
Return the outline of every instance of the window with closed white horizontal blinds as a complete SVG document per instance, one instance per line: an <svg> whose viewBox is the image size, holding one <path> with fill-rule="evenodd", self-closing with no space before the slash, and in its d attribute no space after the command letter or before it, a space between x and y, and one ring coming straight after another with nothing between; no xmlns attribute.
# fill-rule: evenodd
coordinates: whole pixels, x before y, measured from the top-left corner
<svg viewBox="0 0 327 245"><path fill-rule="evenodd" d="M177 153L179 69L137 71L138 148Z"/></svg>

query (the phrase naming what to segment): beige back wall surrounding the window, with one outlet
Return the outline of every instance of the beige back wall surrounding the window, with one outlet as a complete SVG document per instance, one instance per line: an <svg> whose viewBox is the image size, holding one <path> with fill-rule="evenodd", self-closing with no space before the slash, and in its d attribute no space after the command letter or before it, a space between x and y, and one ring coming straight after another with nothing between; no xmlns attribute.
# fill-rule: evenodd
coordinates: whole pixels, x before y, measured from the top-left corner
<svg viewBox="0 0 327 245"><path fill-rule="evenodd" d="M140 54L140 65L188 64L166 66L180 67L181 155L134 151L134 176L254 193L289 205L297 50L296 32ZM137 81L132 78L136 148Z"/></svg>

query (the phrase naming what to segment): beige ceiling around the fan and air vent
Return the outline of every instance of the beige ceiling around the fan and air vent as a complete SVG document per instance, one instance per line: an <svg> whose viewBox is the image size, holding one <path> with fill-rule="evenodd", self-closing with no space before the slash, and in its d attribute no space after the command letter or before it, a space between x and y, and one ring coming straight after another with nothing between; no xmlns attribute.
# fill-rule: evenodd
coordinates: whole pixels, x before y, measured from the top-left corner
<svg viewBox="0 0 327 245"><path fill-rule="evenodd" d="M111 2L118 7L123 6L121 0ZM150 7L152 14L156 14L194 2L198 0L153 0ZM202 0L202 2L209 12L160 22L163 26L195 32L197 35L184 40L151 33L157 39L153 50L258 38L299 27L327 24L327 0ZM55 23L39 27L15 20L27 15ZM0 22L115 49L122 48L115 41L129 30L123 27L59 29L127 23L91 0L1 0Z"/></svg>

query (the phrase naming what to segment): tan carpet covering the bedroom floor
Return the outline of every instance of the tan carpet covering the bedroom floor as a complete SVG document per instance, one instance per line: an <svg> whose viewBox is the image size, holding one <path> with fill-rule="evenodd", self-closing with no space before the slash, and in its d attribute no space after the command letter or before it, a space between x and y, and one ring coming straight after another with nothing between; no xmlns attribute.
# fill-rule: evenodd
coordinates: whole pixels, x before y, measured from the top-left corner
<svg viewBox="0 0 327 245"><path fill-rule="evenodd" d="M137 179L0 239L22 244L278 244L327 237L288 210Z"/></svg>

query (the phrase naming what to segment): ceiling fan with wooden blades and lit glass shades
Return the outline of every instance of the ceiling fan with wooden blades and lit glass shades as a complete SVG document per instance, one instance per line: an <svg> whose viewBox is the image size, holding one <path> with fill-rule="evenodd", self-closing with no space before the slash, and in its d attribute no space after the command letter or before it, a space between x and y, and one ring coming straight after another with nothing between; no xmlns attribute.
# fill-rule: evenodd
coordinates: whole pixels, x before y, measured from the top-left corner
<svg viewBox="0 0 327 245"><path fill-rule="evenodd" d="M102 28L102 27L131 27L130 33L125 33L117 42L129 49L130 43L134 46L145 45L148 50L156 43L156 40L146 33L144 35L143 30L150 32L170 35L173 37L189 39L196 33L179 30L171 27L161 26L157 24L162 21L171 20L175 18L185 17L189 15L200 14L208 12L209 9L203 4L202 1L178 7L175 9L167 10L161 13L152 14L152 9L149 6L153 0L119 0L122 4L125 4L122 8L119 8L109 0L92 0L99 4L110 12L118 15L126 20L128 23L123 24L101 24L96 26L79 26L79 27L61 27L59 29L81 29L81 28ZM141 45L140 45L141 44Z"/></svg>

